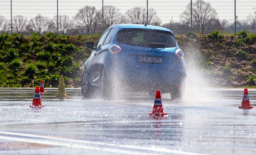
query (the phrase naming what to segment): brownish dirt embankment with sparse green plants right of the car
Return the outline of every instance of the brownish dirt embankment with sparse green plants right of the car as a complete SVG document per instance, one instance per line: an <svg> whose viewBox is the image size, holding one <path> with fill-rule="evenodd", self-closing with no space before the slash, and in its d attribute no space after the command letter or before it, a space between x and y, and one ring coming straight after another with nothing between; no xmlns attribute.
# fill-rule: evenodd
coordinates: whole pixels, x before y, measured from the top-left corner
<svg viewBox="0 0 256 155"><path fill-rule="evenodd" d="M256 34L176 36L187 69L197 67L213 87L256 85Z"/></svg>

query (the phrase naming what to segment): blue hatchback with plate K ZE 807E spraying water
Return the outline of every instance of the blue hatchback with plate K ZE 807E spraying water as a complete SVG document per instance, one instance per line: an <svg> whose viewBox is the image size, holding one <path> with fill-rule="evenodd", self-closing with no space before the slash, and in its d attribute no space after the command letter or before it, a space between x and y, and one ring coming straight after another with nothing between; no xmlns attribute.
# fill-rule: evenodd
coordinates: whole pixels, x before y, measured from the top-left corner
<svg viewBox="0 0 256 155"><path fill-rule="evenodd" d="M185 89L184 53L173 33L167 28L120 24L102 34L85 62L82 94L85 98L111 97L122 91L156 90L170 93L172 99L182 97Z"/></svg>

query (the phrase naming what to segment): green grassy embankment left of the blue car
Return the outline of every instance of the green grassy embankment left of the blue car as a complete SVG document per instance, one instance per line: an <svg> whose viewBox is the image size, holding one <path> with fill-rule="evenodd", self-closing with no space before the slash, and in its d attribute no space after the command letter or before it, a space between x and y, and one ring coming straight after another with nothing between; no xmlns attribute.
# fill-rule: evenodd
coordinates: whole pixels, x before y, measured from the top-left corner
<svg viewBox="0 0 256 155"><path fill-rule="evenodd" d="M99 37L1 34L0 87L34 87L39 79L48 80L45 87L58 87L60 74L66 75L67 87L73 83L78 87L74 81L81 79L84 61L91 52L85 41L96 42Z"/></svg>

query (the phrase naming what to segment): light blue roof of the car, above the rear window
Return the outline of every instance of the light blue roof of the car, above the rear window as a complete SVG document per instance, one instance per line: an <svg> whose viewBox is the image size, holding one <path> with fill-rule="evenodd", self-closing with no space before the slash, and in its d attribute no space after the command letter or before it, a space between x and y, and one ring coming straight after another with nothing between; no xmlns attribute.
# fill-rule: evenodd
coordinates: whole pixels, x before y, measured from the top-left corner
<svg viewBox="0 0 256 155"><path fill-rule="evenodd" d="M155 29L155 30L163 30L163 31L169 31L172 32L171 30L164 28L164 27L159 27L159 26L153 26L153 25L142 25L142 24L117 24L117 25L113 25L111 27L115 27L115 28L146 28L146 29Z"/></svg>

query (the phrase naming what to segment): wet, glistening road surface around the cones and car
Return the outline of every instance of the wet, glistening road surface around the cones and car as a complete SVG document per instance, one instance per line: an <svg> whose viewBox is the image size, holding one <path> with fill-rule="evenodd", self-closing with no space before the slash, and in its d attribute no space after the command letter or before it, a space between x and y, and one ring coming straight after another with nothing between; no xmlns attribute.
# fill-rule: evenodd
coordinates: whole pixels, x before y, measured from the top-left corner
<svg viewBox="0 0 256 155"><path fill-rule="evenodd" d="M143 93L106 101L45 88L45 107L34 109L34 90L0 88L0 154L256 154L256 89L250 110L238 108L244 89L161 94L162 120L149 117L154 97Z"/></svg>

